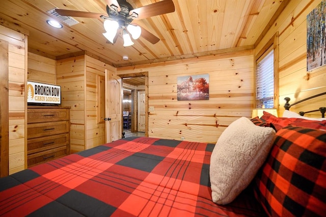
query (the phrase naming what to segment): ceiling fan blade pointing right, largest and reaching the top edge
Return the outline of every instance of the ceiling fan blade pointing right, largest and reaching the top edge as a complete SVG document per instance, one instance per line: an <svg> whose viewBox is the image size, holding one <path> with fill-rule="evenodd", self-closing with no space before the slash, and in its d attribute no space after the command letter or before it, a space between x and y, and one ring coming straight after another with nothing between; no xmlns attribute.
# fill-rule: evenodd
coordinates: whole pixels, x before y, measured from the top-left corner
<svg viewBox="0 0 326 217"><path fill-rule="evenodd" d="M144 19L152 16L157 16L161 14L167 14L174 12L174 4L172 0L164 0L150 5L146 5L140 8L133 9L129 12L131 15L132 12L138 14L137 19Z"/></svg>

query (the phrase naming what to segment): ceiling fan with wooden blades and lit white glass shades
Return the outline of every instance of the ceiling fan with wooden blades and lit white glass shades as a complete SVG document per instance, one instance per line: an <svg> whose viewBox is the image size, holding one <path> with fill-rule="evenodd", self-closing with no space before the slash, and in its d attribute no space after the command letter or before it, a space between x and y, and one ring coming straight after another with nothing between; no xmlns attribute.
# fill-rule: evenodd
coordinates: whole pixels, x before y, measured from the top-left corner
<svg viewBox="0 0 326 217"><path fill-rule="evenodd" d="M175 11L172 0L163 0L136 9L133 9L126 0L105 0L105 2L107 4L107 15L64 9L56 9L56 12L61 16L101 18L104 20L103 25L106 31L103 35L109 43L114 44L116 42L119 36L118 32L120 31L124 40L123 46L130 46L133 45L130 35L133 39L138 39L142 36L152 44L159 41L159 38L142 28L140 25L134 23L131 24L133 20L140 20Z"/></svg>

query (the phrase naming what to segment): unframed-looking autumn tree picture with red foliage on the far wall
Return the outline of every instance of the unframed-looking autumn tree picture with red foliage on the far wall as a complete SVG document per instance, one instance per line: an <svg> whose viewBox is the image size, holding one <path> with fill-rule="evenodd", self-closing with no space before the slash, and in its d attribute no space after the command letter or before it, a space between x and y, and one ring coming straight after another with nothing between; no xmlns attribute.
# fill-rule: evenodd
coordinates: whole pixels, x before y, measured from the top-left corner
<svg viewBox="0 0 326 217"><path fill-rule="evenodd" d="M178 100L208 100L209 75L187 75L177 77Z"/></svg>

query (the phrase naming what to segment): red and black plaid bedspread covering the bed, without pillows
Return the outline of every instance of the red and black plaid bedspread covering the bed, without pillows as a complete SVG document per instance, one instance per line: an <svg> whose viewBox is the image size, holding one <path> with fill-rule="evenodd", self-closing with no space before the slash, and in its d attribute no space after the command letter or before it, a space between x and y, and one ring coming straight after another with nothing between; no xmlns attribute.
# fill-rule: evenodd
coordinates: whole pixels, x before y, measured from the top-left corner
<svg viewBox="0 0 326 217"><path fill-rule="evenodd" d="M0 179L1 216L262 216L247 190L211 201L214 144L126 138Z"/></svg>

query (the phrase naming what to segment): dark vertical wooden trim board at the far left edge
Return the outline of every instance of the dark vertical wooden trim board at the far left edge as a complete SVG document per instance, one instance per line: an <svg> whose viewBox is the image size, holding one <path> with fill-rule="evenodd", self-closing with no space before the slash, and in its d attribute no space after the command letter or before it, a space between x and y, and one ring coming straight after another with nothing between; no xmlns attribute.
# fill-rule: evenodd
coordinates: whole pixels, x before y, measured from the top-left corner
<svg viewBox="0 0 326 217"><path fill-rule="evenodd" d="M9 175L9 43L0 40L0 177Z"/></svg>

